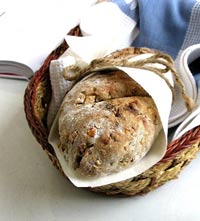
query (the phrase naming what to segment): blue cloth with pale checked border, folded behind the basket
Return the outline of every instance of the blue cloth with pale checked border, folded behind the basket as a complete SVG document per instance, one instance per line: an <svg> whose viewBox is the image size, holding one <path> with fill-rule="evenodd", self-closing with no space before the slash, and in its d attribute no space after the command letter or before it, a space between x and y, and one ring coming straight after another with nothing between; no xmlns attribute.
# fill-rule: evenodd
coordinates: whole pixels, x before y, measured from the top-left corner
<svg viewBox="0 0 200 221"><path fill-rule="evenodd" d="M137 22L139 34L132 45L158 49L171 55L186 85L187 94L196 100L193 76L181 68L182 53L191 45L200 43L200 1L197 0L112 0L130 18ZM200 57L200 53L198 54ZM189 65L189 63L188 63ZM179 124L188 112L178 87L172 107L169 127Z"/></svg>

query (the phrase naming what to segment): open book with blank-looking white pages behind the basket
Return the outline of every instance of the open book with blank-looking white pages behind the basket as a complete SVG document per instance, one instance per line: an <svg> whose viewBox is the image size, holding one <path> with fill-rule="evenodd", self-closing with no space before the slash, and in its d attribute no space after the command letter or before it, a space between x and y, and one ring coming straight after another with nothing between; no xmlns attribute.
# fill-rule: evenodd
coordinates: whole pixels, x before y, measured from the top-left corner
<svg viewBox="0 0 200 221"><path fill-rule="evenodd" d="M94 0L3 0L0 77L29 79Z"/></svg>

